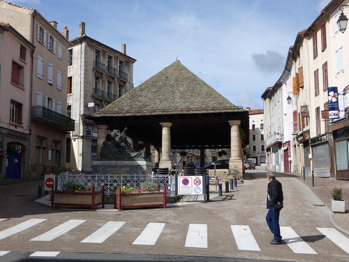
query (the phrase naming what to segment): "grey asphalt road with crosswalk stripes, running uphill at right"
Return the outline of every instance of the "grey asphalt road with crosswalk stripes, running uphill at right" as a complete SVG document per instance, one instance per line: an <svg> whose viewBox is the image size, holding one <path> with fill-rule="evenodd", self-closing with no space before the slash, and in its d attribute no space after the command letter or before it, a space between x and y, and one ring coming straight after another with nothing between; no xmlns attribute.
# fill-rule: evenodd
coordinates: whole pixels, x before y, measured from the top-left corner
<svg viewBox="0 0 349 262"><path fill-rule="evenodd" d="M211 194L208 203L121 212L51 209L34 201L42 182L0 187L0 218L9 218L0 221L0 261L349 260L348 249L341 248L348 235L335 230L289 177L277 177L284 191L283 245L270 245L265 168L247 172L255 179L223 197ZM338 232L335 238L344 242L331 240L322 228ZM60 253L30 256L34 252Z"/></svg>

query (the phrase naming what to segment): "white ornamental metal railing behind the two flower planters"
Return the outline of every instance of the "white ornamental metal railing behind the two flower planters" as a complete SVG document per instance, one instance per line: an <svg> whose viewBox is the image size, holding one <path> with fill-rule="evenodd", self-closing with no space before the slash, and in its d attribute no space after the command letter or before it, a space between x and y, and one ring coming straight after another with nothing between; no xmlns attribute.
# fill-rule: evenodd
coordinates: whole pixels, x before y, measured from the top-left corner
<svg viewBox="0 0 349 262"><path fill-rule="evenodd" d="M66 181L73 181L75 183L86 185L87 187L95 187L96 190L102 190L104 185L104 191L106 196L114 194L114 186L126 186L135 189L140 189L140 185L146 181L152 181L160 185L163 189L167 187L166 195L174 196L174 175L73 175L73 174L61 174L58 175L58 187L59 190Z"/></svg>

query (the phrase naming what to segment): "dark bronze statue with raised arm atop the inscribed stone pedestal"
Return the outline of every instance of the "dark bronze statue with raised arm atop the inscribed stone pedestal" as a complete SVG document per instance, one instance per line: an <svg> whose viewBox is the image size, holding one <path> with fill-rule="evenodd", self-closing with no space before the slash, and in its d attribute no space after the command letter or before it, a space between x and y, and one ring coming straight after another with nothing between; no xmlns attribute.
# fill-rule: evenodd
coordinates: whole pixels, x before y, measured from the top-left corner
<svg viewBox="0 0 349 262"><path fill-rule="evenodd" d="M136 152L128 143L126 137L127 128L120 134L119 130L114 130L111 133L113 141L108 143L103 142L101 147L101 158L144 158L144 151Z"/></svg>

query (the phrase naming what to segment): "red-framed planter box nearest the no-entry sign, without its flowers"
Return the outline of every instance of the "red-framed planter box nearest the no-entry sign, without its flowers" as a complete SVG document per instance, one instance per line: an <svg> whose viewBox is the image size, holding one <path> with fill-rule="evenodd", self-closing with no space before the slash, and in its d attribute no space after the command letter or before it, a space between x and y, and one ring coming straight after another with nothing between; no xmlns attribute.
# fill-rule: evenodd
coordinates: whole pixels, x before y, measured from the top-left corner
<svg viewBox="0 0 349 262"><path fill-rule="evenodd" d="M95 191L92 187L92 191L84 192L63 192L52 191L51 193L51 206L56 208L81 208L90 207L94 210L95 206L102 205L104 208L104 187L102 191Z"/></svg>

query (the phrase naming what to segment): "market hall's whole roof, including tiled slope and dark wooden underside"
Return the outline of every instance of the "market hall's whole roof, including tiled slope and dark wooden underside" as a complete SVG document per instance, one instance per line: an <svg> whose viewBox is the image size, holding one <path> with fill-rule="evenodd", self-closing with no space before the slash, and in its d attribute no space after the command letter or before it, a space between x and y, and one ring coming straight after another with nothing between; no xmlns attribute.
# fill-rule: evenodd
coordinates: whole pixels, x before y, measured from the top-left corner
<svg viewBox="0 0 349 262"><path fill-rule="evenodd" d="M171 122L171 149L230 148L230 120L248 144L248 110L237 107L176 60L89 119L127 136L162 144L159 123Z"/></svg>

